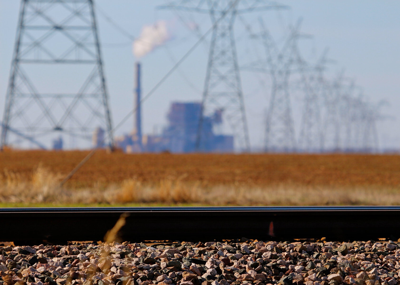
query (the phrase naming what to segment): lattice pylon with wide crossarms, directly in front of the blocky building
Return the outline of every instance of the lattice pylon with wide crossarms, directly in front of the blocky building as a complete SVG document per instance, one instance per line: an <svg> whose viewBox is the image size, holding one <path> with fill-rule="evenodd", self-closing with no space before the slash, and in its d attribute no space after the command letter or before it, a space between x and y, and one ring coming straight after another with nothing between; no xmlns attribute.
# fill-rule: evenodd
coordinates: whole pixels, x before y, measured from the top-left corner
<svg viewBox="0 0 400 285"><path fill-rule="evenodd" d="M209 14L213 24L199 123L198 150L206 149L208 144L208 134L202 131L204 118L212 116L215 110L223 110L238 147L249 151L250 141L236 54L234 23L238 14L284 6L267 0L178 0L160 8Z"/></svg>

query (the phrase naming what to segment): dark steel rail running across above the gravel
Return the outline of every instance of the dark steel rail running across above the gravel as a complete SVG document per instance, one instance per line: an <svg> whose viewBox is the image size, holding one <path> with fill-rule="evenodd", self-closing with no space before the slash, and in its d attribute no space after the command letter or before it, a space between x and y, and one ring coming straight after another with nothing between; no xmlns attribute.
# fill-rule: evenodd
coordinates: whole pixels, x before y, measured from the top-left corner
<svg viewBox="0 0 400 285"><path fill-rule="evenodd" d="M124 241L398 239L400 207L0 208L0 241L100 241L122 214Z"/></svg>

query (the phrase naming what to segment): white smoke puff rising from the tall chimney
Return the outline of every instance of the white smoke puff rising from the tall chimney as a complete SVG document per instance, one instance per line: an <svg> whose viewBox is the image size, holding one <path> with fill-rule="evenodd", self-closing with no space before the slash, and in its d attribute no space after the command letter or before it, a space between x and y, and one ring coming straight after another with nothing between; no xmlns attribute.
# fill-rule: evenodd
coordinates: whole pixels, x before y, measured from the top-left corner
<svg viewBox="0 0 400 285"><path fill-rule="evenodd" d="M160 20L153 25L144 26L142 34L133 43L133 53L140 58L158 46L162 46L169 39L170 35L165 21Z"/></svg>

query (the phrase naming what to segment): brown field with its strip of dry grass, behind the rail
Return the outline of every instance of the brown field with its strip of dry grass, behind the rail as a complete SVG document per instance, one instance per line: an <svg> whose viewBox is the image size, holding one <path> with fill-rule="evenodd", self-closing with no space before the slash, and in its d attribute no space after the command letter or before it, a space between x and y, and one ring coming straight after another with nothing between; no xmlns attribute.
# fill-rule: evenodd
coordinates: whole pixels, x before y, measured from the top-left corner
<svg viewBox="0 0 400 285"><path fill-rule="evenodd" d="M0 153L0 203L400 205L399 155Z"/></svg>

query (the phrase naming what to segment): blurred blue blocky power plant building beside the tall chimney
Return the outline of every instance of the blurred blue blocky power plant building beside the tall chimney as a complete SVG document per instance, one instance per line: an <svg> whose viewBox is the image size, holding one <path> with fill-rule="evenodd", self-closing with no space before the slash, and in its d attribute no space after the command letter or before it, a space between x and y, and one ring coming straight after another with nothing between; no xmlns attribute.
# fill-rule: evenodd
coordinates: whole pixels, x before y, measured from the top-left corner
<svg viewBox="0 0 400 285"><path fill-rule="evenodd" d="M188 153L196 151L199 130L201 103L173 102L167 114L168 125L160 135L144 135L142 143L138 143L135 134L116 138L117 147L126 152L160 152ZM202 144L200 151L233 152L233 136L217 135L214 127L222 124L222 110L212 116L203 118ZM141 147L140 147L141 145Z"/></svg>

